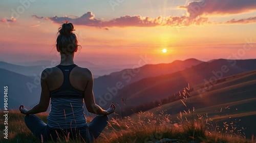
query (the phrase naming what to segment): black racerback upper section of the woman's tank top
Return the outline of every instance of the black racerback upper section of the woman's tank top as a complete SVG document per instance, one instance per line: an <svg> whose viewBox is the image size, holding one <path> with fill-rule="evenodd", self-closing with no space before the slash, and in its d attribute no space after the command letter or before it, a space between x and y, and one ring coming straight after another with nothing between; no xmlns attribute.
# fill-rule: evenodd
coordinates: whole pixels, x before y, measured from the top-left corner
<svg viewBox="0 0 256 143"><path fill-rule="evenodd" d="M69 80L69 75L71 70L76 67L76 64L63 66L63 65L57 65L64 76L64 80L62 85L56 89L50 92L51 98L83 98L83 91L75 89Z"/></svg>

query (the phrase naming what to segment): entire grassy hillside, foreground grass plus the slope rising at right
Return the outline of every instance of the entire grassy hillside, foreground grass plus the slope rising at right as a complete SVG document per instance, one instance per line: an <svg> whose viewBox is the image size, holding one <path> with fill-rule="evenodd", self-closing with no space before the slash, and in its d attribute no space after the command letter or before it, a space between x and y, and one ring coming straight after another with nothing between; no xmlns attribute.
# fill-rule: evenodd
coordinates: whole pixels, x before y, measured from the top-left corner
<svg viewBox="0 0 256 143"><path fill-rule="evenodd" d="M182 101L141 111L123 119L109 116L109 124L96 142L160 143L159 140L168 139L172 139L172 142L255 142L254 87L256 71L221 79L221 82L202 95L197 95L197 91L190 92L190 87L184 88L181 91L181 97L184 97ZM2 111L0 116L3 117ZM38 116L47 123L48 113L39 113ZM87 119L89 123L92 117ZM24 115L18 111L9 113L9 139L3 138L3 121L1 118L1 142L40 142L25 126ZM82 142L79 139L60 140Z"/></svg>

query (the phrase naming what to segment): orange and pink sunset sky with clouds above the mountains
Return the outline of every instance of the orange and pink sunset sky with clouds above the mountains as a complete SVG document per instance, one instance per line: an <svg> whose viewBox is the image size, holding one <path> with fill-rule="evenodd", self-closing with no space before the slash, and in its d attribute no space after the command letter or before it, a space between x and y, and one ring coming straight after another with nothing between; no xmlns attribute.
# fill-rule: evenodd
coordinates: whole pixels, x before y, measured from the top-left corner
<svg viewBox="0 0 256 143"><path fill-rule="evenodd" d="M0 61L58 60L65 19L82 46L75 60L94 64L137 64L145 54L152 64L256 55L255 0L4 0Z"/></svg>

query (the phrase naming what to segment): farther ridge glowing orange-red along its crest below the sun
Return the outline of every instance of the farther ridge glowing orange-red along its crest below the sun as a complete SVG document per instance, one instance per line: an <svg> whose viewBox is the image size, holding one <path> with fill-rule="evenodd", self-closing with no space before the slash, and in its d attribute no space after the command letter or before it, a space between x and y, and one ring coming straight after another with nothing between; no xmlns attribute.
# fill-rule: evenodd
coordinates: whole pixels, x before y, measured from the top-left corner
<svg viewBox="0 0 256 143"><path fill-rule="evenodd" d="M115 87L117 82L127 85L143 78L174 73L201 63L202 61L197 59L188 59L185 61L174 61L168 64L144 65L136 69L123 69L96 78L94 80L94 94L97 97L108 93L108 87Z"/></svg>

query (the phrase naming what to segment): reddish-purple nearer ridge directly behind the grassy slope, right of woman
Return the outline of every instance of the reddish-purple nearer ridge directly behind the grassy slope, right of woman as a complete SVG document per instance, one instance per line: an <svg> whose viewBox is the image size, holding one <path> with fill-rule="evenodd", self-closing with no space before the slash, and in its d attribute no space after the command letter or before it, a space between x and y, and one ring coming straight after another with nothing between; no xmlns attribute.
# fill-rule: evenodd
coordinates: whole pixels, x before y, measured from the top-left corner
<svg viewBox="0 0 256 143"><path fill-rule="evenodd" d="M225 72L220 73L221 69L225 69ZM200 83L205 84L207 88L207 81L209 82L209 80L220 79L221 77L252 70L256 70L256 60L227 61L219 59L210 63L204 62L172 74L143 78L128 84L123 89L119 90L117 95L113 96L109 103L114 101L121 104L121 99L123 98L126 99L125 104L127 106L137 106L174 95L174 93L184 88L187 83L197 90L201 88L196 86Z"/></svg>

